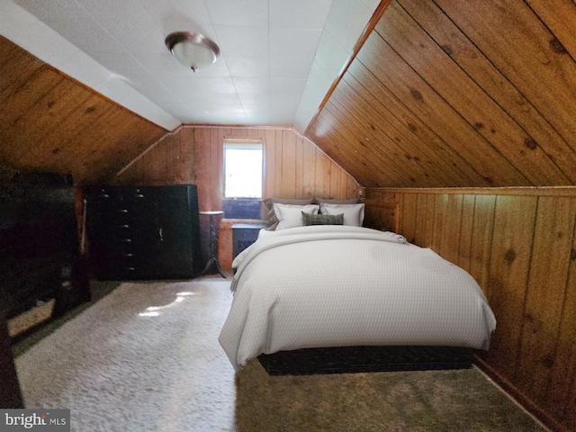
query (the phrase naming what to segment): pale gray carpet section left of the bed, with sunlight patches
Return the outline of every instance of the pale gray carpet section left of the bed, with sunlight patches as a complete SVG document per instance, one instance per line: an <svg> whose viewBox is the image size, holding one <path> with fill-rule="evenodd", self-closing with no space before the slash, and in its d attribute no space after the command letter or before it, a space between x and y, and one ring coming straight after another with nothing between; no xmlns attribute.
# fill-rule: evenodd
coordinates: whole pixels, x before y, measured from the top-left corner
<svg viewBox="0 0 576 432"><path fill-rule="evenodd" d="M232 430L231 300L221 279L121 284L16 358L25 406L78 432Z"/></svg>

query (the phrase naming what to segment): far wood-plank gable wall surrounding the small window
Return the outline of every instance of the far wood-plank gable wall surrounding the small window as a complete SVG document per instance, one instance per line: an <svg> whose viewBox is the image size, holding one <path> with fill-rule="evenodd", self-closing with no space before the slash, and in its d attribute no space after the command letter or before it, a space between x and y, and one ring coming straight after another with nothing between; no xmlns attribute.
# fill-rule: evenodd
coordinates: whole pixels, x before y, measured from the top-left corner
<svg viewBox="0 0 576 432"><path fill-rule="evenodd" d="M360 187L309 139L291 129L184 126L123 169L118 184L198 184L201 210L220 210L224 139L262 139L264 196L356 198Z"/></svg>

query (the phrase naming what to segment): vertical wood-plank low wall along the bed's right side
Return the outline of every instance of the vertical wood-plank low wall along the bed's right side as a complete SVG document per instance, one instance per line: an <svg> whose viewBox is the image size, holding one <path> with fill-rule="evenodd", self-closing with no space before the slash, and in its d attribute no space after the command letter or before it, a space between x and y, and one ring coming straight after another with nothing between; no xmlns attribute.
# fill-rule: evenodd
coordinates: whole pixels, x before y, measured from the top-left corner
<svg viewBox="0 0 576 432"><path fill-rule="evenodd" d="M477 363L551 428L576 430L576 188L368 188L365 201L368 226L396 222L473 275L498 320Z"/></svg>

